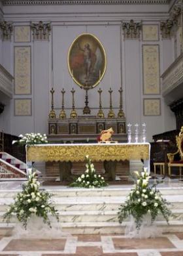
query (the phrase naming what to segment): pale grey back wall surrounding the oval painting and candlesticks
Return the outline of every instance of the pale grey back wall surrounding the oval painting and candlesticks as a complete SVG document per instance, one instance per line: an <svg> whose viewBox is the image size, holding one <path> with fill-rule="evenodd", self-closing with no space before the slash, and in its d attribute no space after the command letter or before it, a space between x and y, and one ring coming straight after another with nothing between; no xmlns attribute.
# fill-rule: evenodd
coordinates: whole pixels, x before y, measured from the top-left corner
<svg viewBox="0 0 183 256"><path fill-rule="evenodd" d="M92 8L92 9L91 9ZM92 11L91 11L92 10ZM75 88L75 103L78 114L82 114L84 107L84 91L71 79L67 68L67 53L69 46L80 33L93 33L99 38L107 54L107 70L101 81L103 89L102 102L105 108L109 106L108 89L112 87L113 105L119 105L118 89L122 85L124 89L124 112L127 122L147 123L148 140L152 135L175 129L175 118L167 107L161 95L146 95L142 93L142 41L125 40L122 35L121 21L142 20L143 24L158 24L159 20L167 18L168 5L116 5L116 6L52 6L52 7L4 7L5 18L14 21L16 25L22 22L45 20L52 22L52 34L50 41L35 41L31 45L32 61L32 116L14 116L14 102L11 102L10 133L18 135L26 132L48 133L47 117L50 110L50 88L54 80L55 107L61 106L61 89L65 87L65 106L71 108L71 88ZM109 23L108 23L109 22ZM28 23L27 23L28 24ZM170 40L160 40L160 73L173 62L173 44ZM151 42L148 42L151 43ZM157 43L157 42L156 42ZM1 64L11 74L14 70L13 41L3 43L3 51L0 54ZM18 45L18 43L16 43ZM21 45L21 43L19 43ZM25 45L25 44L22 44ZM6 56L6 58L4 57ZM2 62L3 58L3 62ZM52 61L53 77L52 79ZM64 76L64 85L63 85ZM110 84L111 77L111 84ZM92 114L96 114L95 108L99 105L97 90L89 91L89 106ZM20 98L25 96L21 95ZM17 96L16 96L17 98ZM143 116L143 98L161 98L161 116ZM108 110L105 110L107 114ZM118 112L118 110L114 110ZM70 110L67 110L67 115ZM1 118L1 116L0 116ZM1 119L0 119L1 120Z"/></svg>

